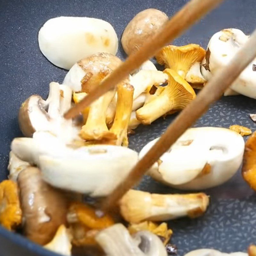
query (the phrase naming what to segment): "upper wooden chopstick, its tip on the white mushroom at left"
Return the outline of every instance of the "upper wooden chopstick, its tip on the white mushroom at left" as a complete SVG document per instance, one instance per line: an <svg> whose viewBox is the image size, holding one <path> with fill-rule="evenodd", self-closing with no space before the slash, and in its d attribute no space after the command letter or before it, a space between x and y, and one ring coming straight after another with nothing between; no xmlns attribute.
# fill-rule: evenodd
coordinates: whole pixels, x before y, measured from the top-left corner
<svg viewBox="0 0 256 256"><path fill-rule="evenodd" d="M191 0L177 12L164 27L148 40L138 52L130 55L125 62L106 77L88 96L81 100L75 107L70 108L64 115L65 118L73 118L88 107L94 100L108 92L116 84L125 79L133 70L139 68L143 62L155 56L156 53L171 42L182 32L191 27L207 12L220 4L223 0Z"/></svg>

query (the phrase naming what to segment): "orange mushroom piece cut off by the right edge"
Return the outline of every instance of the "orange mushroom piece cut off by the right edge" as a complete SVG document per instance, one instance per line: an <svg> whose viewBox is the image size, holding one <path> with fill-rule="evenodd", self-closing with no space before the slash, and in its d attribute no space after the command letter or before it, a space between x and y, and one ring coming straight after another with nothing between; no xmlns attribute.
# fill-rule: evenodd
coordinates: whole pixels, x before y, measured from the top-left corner
<svg viewBox="0 0 256 256"><path fill-rule="evenodd" d="M256 191L256 132L245 142L242 167L244 180Z"/></svg>

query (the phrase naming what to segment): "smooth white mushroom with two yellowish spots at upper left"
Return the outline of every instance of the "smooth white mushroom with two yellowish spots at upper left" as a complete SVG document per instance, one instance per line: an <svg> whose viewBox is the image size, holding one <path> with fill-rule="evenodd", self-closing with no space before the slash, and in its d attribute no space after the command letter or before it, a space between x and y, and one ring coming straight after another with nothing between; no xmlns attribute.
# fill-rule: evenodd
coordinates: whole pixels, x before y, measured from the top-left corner
<svg viewBox="0 0 256 256"><path fill-rule="evenodd" d="M46 21L38 33L41 52L54 65L70 69L78 60L97 52L116 55L118 39L105 20L57 17Z"/></svg>

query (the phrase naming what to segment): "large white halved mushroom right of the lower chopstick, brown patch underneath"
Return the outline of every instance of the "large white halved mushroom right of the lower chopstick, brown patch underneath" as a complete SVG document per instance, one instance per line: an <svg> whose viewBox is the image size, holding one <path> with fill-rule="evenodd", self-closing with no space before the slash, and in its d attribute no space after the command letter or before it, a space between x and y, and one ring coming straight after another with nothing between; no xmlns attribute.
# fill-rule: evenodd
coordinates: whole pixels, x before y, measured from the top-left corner
<svg viewBox="0 0 256 256"><path fill-rule="evenodd" d="M149 142L139 157L143 157L157 140ZM243 153L244 140L236 132L217 127L191 128L160 157L148 174L175 188L212 188L235 175Z"/></svg>

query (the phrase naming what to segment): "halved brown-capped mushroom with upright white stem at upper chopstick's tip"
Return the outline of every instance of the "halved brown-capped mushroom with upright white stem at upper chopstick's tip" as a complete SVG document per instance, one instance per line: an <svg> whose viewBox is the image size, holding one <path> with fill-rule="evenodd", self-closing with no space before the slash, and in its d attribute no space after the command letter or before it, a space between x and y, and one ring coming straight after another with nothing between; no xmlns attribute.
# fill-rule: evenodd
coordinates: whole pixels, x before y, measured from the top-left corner
<svg viewBox="0 0 256 256"><path fill-rule="evenodd" d="M21 105L18 116L24 136L32 137L36 131L49 131L65 141L78 139L78 128L72 120L63 118L71 107L71 99L71 89L55 82L50 83L47 100L39 95L29 97Z"/></svg>

